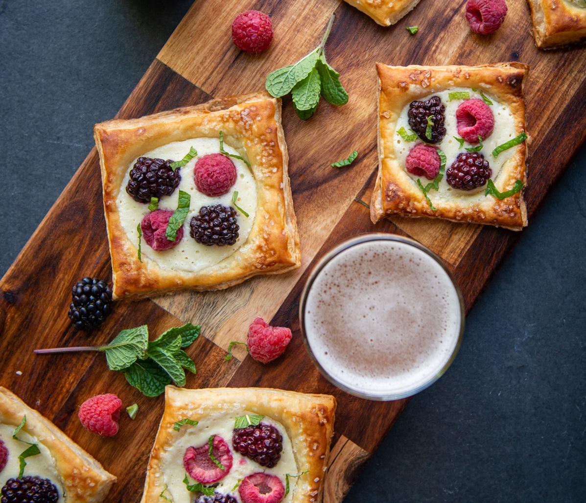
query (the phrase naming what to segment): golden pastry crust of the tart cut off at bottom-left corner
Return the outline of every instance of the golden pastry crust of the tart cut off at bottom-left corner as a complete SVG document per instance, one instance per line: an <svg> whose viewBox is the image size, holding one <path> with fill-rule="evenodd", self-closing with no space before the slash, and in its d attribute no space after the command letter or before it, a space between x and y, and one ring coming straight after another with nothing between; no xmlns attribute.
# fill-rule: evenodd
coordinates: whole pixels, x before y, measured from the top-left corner
<svg viewBox="0 0 586 503"><path fill-rule="evenodd" d="M104 501L116 477L105 471L100 463L46 417L31 409L8 389L0 387L0 423L16 428L25 415L26 423L21 431L49 450L63 484L64 500L67 503Z"/></svg>

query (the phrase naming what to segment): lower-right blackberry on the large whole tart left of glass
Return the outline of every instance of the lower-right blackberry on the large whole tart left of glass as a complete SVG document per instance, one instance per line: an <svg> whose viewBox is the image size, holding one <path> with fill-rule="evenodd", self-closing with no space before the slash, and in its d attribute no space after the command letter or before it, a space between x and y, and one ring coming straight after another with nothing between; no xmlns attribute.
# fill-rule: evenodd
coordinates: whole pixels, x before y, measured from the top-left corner
<svg viewBox="0 0 586 503"><path fill-rule="evenodd" d="M236 210L223 205L202 206L189 226L189 235L206 246L231 246L236 243L240 229L236 223Z"/></svg>

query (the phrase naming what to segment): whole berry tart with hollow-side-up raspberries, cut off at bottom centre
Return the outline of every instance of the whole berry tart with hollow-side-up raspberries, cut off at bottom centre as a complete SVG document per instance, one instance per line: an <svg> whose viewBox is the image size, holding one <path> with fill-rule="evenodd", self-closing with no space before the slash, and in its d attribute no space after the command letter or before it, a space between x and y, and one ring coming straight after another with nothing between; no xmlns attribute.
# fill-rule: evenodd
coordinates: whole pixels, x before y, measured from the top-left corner
<svg viewBox="0 0 586 503"><path fill-rule="evenodd" d="M319 502L335 409L330 395L167 386L141 501Z"/></svg>

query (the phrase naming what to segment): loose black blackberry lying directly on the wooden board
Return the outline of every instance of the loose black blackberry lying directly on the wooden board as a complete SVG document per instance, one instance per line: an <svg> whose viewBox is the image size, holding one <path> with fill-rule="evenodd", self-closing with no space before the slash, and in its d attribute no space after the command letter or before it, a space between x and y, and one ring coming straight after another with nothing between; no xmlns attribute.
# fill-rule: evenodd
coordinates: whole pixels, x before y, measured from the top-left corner
<svg viewBox="0 0 586 503"><path fill-rule="evenodd" d="M73 302L67 315L78 330L89 331L99 327L110 313L112 290L98 278L83 278L71 288Z"/></svg>

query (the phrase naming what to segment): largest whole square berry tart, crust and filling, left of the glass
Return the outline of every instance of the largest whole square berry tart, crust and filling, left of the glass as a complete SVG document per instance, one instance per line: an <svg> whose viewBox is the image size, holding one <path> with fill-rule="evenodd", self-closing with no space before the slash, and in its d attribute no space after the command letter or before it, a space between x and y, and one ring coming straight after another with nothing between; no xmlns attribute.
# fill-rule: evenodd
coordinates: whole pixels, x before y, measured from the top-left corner
<svg viewBox="0 0 586 503"><path fill-rule="evenodd" d="M96 124L114 298L217 290L301 264L281 100Z"/></svg>

